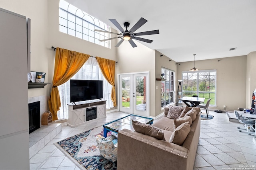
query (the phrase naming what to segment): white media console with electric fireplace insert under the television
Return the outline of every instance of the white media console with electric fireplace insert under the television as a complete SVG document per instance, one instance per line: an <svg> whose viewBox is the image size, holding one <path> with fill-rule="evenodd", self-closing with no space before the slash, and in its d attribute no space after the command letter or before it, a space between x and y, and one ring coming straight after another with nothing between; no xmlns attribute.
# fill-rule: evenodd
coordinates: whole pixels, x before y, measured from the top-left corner
<svg viewBox="0 0 256 170"><path fill-rule="evenodd" d="M68 126L76 127L106 117L106 100L88 100L68 104Z"/></svg>

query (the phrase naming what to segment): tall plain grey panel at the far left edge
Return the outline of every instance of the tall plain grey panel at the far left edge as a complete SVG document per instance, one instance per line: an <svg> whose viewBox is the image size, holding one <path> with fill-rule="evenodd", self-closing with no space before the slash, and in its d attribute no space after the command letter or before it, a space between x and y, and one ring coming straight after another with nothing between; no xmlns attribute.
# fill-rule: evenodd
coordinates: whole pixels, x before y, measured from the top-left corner
<svg viewBox="0 0 256 170"><path fill-rule="evenodd" d="M0 8L0 169L29 169L27 40L26 17Z"/></svg>

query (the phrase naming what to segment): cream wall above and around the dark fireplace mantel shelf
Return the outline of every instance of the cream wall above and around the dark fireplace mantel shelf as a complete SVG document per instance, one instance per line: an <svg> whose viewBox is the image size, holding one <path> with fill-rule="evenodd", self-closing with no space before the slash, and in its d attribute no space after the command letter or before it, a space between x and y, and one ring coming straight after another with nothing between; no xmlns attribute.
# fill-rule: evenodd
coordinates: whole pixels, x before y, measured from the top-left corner
<svg viewBox="0 0 256 170"><path fill-rule="evenodd" d="M44 82L51 82L48 74L48 14L46 0L0 0L0 7L31 19L31 71L46 72ZM29 89L28 97L48 95L45 88Z"/></svg>

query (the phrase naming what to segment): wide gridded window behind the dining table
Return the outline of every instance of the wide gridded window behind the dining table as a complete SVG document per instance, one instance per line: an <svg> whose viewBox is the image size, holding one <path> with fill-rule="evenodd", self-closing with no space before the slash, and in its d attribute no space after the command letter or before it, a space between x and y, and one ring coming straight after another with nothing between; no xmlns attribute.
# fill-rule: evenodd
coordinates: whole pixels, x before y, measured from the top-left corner
<svg viewBox="0 0 256 170"><path fill-rule="evenodd" d="M210 105L216 106L216 70L184 71L182 80L183 96L206 98L204 103L211 98Z"/></svg>

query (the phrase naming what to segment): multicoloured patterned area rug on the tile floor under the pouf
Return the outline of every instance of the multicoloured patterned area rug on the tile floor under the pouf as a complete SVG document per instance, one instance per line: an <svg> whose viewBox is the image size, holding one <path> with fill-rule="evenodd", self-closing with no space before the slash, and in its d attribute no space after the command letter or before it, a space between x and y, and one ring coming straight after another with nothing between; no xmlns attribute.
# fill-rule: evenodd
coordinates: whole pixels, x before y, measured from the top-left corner
<svg viewBox="0 0 256 170"><path fill-rule="evenodd" d="M54 145L83 170L116 170L116 162L106 160L100 155L96 143L98 134L103 136L102 126L74 135ZM107 135L117 137L117 133L113 132L108 132Z"/></svg>

